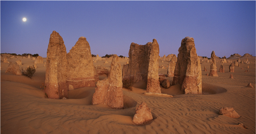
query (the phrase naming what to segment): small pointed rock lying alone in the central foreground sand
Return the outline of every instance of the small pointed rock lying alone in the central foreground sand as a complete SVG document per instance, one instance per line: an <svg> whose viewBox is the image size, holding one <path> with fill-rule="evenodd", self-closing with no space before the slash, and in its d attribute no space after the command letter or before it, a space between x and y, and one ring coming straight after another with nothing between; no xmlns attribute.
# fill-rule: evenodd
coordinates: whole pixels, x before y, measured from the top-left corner
<svg viewBox="0 0 256 134"><path fill-rule="evenodd" d="M153 120L151 110L145 102L142 102L137 108L136 113L133 116L132 122L136 125L142 125L144 123Z"/></svg>

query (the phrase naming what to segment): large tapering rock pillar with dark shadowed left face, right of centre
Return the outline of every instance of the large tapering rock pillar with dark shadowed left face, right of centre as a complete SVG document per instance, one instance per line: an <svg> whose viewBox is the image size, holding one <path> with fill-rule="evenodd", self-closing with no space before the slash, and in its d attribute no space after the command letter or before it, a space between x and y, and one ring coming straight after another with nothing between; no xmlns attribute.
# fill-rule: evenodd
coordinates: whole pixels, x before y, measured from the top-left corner
<svg viewBox="0 0 256 134"><path fill-rule="evenodd" d="M185 94L201 94L201 65L196 54L194 39L185 37L178 49L178 60L174 70L173 85L180 84Z"/></svg>

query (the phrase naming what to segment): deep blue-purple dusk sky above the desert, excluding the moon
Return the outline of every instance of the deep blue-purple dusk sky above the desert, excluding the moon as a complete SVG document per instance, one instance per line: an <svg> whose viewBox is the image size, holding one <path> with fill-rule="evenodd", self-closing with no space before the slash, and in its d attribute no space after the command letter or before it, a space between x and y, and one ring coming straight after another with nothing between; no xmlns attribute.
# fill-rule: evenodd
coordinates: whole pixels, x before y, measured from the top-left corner
<svg viewBox="0 0 256 134"><path fill-rule="evenodd" d="M255 1L1 1L1 53L46 57L52 31L67 53L81 36L92 54L128 56L132 42L157 39L160 53L178 54L195 40L197 54L256 53ZM27 21L23 22L22 18Z"/></svg>

